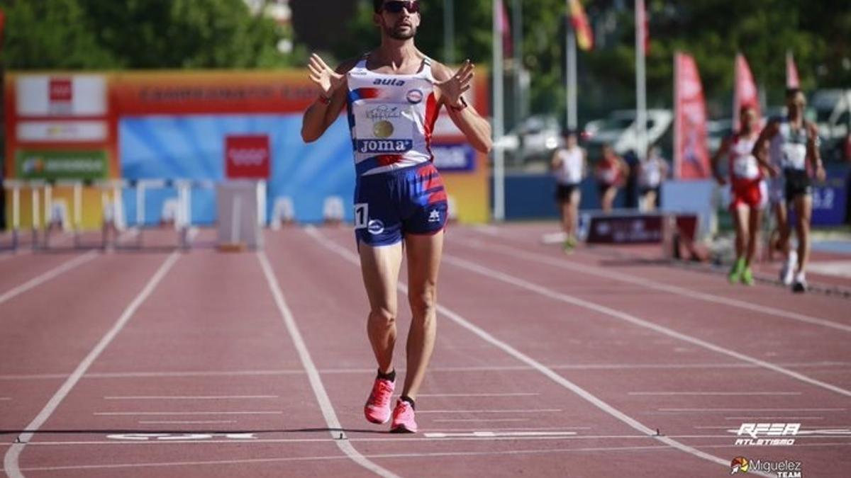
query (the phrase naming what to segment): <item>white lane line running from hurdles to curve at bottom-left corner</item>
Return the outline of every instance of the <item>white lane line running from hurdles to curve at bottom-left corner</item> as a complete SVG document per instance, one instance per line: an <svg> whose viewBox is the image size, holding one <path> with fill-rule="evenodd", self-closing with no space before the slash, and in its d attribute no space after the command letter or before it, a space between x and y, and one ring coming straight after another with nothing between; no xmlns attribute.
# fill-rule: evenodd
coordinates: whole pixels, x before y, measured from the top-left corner
<svg viewBox="0 0 851 478"><path fill-rule="evenodd" d="M89 367L92 366L95 359L100 356L100 353L106 349L106 346L109 345L112 339L121 332L121 329L127 322L130 320L136 310L139 309L140 305L145 302L148 296L151 295L154 288L157 287L160 281L163 280L163 277L166 276L168 270L177 262L177 259L180 259L180 253L174 252L171 253L165 261L163 261L163 265L160 265L157 272L151 276L151 279L146 283L145 287L142 288L139 295L137 295L133 302L131 302L127 309L125 309L120 317L118 317L117 322L109 332L104 335L100 341L94 345L94 349L89 352L89 355L83 358L83 361L77 365L77 368L71 373L71 375L66 378L65 383L62 384L59 390L56 390L56 393L50 398L48 404L44 406L41 412L38 413L36 418L34 418L30 424L26 425L26 432L22 433L18 436L18 441L20 443L15 443L12 447L9 447L9 450L6 451L5 456L3 457L3 468L6 469L6 474L9 475L9 478L21 478L23 475L20 473L20 468L18 467L18 457L20 456L20 452L24 450L26 444L32 440L32 436L35 435L36 431L42 427L44 422L50 417L51 414L54 413L56 407L59 407L60 402L65 399L65 397L71 392L71 389L74 388L74 385L80 381L80 378L83 377L83 374L89 370Z"/></svg>

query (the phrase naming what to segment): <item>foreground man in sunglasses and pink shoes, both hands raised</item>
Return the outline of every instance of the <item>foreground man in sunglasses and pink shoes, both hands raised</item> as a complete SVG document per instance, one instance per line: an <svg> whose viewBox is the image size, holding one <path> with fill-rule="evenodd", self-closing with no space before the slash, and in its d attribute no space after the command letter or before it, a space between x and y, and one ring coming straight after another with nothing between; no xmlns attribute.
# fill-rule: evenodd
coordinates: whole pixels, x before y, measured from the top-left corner
<svg viewBox="0 0 851 478"><path fill-rule="evenodd" d="M431 134L444 105L477 150L490 151L488 122L467 105L473 65L453 73L414 46L420 27L417 1L373 0L381 44L332 70L314 54L311 81L319 98L305 112L301 136L319 138L343 106L354 148L355 237L369 299L367 332L378 376L364 407L377 424L392 418L391 431L414 433L414 401L431 358L436 334L437 270L443 250L447 196L432 164ZM404 248L403 248L404 244ZM408 257L408 372L391 413L396 384L397 281Z"/></svg>

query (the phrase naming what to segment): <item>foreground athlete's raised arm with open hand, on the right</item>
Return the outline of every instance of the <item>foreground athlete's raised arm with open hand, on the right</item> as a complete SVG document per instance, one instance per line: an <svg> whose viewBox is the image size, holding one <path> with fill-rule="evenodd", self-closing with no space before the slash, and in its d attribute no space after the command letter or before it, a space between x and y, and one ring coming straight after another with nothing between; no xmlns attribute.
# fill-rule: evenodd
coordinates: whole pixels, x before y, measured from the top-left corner
<svg viewBox="0 0 851 478"><path fill-rule="evenodd" d="M466 60L459 71L453 73L440 63L431 68L437 91L437 105L446 105L449 117L478 151L489 152L494 146L490 124L476 108L467 105L462 95L470 89L473 79L473 65Z"/></svg>

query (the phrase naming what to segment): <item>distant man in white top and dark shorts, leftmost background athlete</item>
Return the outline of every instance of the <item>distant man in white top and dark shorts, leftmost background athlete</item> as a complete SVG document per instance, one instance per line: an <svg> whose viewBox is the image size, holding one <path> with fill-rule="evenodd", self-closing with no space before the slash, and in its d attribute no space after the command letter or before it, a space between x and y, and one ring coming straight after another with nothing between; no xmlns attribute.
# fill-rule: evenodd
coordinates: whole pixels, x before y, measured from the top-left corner
<svg viewBox="0 0 851 478"><path fill-rule="evenodd" d="M573 131L563 133L564 147L552 154L551 168L556 176L556 202L564 230L565 252L576 247L576 219L581 200L580 183L588 170L585 150L576 142Z"/></svg>

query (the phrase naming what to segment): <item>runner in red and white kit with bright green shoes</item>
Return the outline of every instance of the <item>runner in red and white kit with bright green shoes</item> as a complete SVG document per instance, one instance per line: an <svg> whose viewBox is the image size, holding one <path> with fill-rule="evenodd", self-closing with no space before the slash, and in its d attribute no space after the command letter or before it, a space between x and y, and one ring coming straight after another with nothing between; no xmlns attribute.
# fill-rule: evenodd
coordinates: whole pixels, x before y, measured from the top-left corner
<svg viewBox="0 0 851 478"><path fill-rule="evenodd" d="M733 193L730 213L733 214L736 228L736 260L728 277L731 283L742 282L751 286L751 260L757 250L760 217L767 202L767 192L760 162L751 154L759 138L757 111L751 106L743 106L740 124L741 129L724 139L712 157L712 169L718 184L727 184L727 179L718 170L718 163L724 155L728 155L730 188Z"/></svg>

